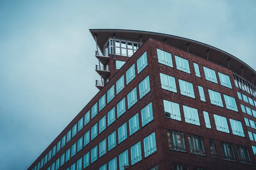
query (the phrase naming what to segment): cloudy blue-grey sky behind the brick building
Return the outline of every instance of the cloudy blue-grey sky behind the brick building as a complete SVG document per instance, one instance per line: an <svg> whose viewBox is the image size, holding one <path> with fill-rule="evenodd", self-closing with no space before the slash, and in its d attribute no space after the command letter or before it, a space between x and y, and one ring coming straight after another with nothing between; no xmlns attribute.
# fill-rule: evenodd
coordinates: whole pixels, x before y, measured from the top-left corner
<svg viewBox="0 0 256 170"><path fill-rule="evenodd" d="M0 0L0 170L26 170L98 92L89 28L213 45L256 69L254 0Z"/></svg>

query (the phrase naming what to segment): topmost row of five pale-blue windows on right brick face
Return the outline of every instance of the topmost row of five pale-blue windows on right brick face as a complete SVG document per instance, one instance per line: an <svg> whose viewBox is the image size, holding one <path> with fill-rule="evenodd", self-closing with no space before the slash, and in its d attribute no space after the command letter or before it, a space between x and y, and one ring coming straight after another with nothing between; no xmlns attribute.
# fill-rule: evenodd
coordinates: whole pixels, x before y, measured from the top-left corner
<svg viewBox="0 0 256 170"><path fill-rule="evenodd" d="M159 63L173 68L172 54L157 48L157 58ZM175 62L176 62L177 70L184 71L190 74L189 60L175 55ZM197 77L201 77L198 64L194 62L193 65L195 69L195 75ZM214 70L204 67L204 75L205 75L205 79L218 84L217 76ZM229 76L219 72L218 72L218 76L222 86L225 86L227 88L232 88Z"/></svg>

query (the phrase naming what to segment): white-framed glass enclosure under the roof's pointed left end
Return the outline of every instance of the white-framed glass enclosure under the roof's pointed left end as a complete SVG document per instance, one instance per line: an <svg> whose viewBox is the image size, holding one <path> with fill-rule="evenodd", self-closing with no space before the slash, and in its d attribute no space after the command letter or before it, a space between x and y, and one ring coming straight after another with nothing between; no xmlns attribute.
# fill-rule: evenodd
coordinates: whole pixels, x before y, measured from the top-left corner
<svg viewBox="0 0 256 170"><path fill-rule="evenodd" d="M140 45L140 42L120 39L116 39L116 44L114 44L114 39L110 38L104 45L103 55L114 54L114 47L116 47L116 55L131 57L140 48Z"/></svg>

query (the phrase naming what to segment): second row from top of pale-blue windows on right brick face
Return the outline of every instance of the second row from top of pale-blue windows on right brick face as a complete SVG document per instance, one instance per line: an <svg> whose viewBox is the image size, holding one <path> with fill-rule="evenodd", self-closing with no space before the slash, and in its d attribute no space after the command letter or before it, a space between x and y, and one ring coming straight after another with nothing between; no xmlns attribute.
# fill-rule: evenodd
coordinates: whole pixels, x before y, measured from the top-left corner
<svg viewBox="0 0 256 170"><path fill-rule="evenodd" d="M177 93L175 77L160 73L160 81L163 89ZM180 94L195 99L193 84L181 79L178 79L178 82L180 86ZM198 91L199 91L201 101L206 102L206 98L204 95L204 88L201 86L198 86ZM219 92L208 89L208 93L209 93L210 101L213 105L224 107L221 99L221 94ZM234 97L227 96L225 94L223 94L223 96L224 96L226 108L229 110L238 112L236 99Z"/></svg>

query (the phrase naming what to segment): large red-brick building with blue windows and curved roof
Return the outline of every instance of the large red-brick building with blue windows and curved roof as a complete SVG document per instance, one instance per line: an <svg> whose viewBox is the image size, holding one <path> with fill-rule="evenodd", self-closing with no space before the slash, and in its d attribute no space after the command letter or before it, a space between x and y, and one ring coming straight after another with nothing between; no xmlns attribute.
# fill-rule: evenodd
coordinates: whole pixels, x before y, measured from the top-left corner
<svg viewBox="0 0 256 170"><path fill-rule="evenodd" d="M91 29L99 93L28 170L255 170L256 73L210 45Z"/></svg>

